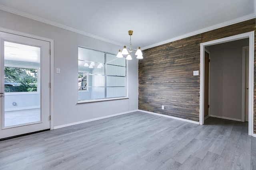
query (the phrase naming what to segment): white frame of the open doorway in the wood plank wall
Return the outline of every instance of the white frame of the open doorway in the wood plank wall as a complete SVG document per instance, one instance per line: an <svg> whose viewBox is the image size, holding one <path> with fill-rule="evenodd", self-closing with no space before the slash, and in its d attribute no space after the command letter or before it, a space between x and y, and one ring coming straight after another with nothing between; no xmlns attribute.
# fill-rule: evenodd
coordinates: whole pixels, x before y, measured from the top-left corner
<svg viewBox="0 0 256 170"><path fill-rule="evenodd" d="M254 96L254 31L231 37L200 43L200 106L199 124L204 124L204 51L205 46L249 38L249 96L248 96L248 135L253 136L253 96Z"/></svg>

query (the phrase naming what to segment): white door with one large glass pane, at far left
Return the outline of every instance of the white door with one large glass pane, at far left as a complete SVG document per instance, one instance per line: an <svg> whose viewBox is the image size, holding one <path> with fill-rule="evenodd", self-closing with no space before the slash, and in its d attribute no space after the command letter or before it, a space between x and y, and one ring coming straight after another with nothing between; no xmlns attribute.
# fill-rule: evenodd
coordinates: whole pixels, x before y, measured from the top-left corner
<svg viewBox="0 0 256 170"><path fill-rule="evenodd" d="M0 139L50 129L50 42L0 31Z"/></svg>

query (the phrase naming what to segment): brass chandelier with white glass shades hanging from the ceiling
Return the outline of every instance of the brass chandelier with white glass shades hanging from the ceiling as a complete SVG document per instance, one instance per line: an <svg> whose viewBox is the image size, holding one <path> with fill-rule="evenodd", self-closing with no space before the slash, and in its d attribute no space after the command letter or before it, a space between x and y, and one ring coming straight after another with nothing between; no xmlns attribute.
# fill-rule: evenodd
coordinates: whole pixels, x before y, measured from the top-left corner
<svg viewBox="0 0 256 170"><path fill-rule="evenodd" d="M135 53L135 55L137 56L136 58L137 59L143 59L140 47L138 47L138 49L132 50L132 41L131 41L132 33L133 33L132 30L128 31L128 34L130 35L130 49L127 49L126 46L124 46L124 49L122 51L119 50L119 52L116 55L116 57L122 58L122 57L124 57L123 55L127 55L126 56L126 60L132 60L131 52L135 52L136 51L136 53Z"/></svg>

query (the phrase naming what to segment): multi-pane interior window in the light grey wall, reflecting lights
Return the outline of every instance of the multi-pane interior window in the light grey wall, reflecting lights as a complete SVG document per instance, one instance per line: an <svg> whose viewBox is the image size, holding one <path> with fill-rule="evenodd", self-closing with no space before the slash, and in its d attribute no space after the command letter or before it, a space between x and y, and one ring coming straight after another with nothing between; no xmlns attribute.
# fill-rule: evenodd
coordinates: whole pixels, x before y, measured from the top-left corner
<svg viewBox="0 0 256 170"><path fill-rule="evenodd" d="M125 96L125 58L78 47L78 100Z"/></svg>

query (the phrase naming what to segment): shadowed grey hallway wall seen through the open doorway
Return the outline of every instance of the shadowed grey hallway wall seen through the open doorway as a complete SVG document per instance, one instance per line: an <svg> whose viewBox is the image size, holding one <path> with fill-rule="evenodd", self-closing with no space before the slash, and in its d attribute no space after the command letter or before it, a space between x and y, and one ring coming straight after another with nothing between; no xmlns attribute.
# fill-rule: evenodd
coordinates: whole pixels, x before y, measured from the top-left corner
<svg viewBox="0 0 256 170"><path fill-rule="evenodd" d="M210 51L210 115L241 120L242 47L248 39L207 47Z"/></svg>

